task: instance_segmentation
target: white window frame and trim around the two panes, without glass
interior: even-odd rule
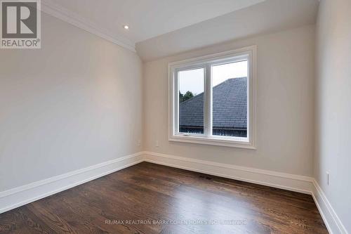
[[[168,63],[168,141],[221,145],[236,148],[256,149],[256,46],[248,46],[232,51],[215,53],[198,58],[190,58]],[[239,60],[248,61],[247,76],[247,137],[213,136],[212,135],[212,84],[211,66],[233,63]],[[179,133],[178,117],[178,71],[204,67],[204,134]]]

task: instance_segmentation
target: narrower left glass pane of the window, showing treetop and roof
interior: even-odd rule
[[[204,134],[204,68],[178,72],[179,132]]]

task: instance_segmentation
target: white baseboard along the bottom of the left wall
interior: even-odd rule
[[[143,155],[141,152],[138,152],[133,155],[119,157],[116,160],[102,162],[91,167],[6,190],[0,193],[0,214],[140,162],[143,162]]]

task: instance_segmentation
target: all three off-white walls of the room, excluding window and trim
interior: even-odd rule
[[[0,191],[139,152],[143,139],[147,151],[314,176],[350,232],[350,8],[321,1],[317,51],[309,25],[144,65],[43,13],[41,49],[0,50]],[[257,150],[168,142],[167,64],[253,44]]]

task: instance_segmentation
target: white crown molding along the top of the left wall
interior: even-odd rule
[[[106,39],[113,44],[117,44],[118,46],[122,46],[128,50],[135,52],[135,43],[126,37],[117,34],[111,34],[109,30],[105,29],[104,27],[96,25],[94,22],[81,17],[77,13],[69,11],[67,8],[53,4],[51,1],[42,0],[41,11],[62,21],[68,22],[71,25],[79,27],[82,30],[90,32],[91,34],[95,34],[102,39]]]

